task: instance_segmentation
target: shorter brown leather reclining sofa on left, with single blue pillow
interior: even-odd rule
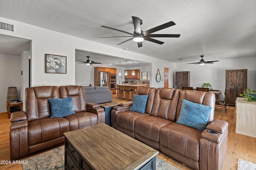
[[[72,97],[75,114],[50,118],[48,99],[67,97]],[[64,143],[64,132],[105,123],[104,109],[86,103],[84,88],[75,85],[26,88],[25,110],[12,113],[10,118],[11,160]]]

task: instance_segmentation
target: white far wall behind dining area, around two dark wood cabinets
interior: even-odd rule
[[[247,87],[256,89],[256,57],[220,59],[219,62],[205,65],[177,63],[174,74],[176,71],[190,71],[190,87],[196,88],[201,87],[203,83],[210,83],[213,89],[222,91],[220,98],[223,98],[228,69],[248,69]]]

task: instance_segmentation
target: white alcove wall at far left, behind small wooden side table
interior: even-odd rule
[[[20,56],[0,54],[0,113],[7,112],[8,87],[17,87],[20,97]]]

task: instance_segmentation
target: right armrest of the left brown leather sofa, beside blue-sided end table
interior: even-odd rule
[[[100,105],[96,103],[86,103],[86,109],[88,112],[95,113],[98,116],[98,123],[105,123],[105,111]]]

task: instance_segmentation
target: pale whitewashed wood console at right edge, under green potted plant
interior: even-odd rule
[[[256,138],[256,101],[248,102],[236,98],[236,133]]]

